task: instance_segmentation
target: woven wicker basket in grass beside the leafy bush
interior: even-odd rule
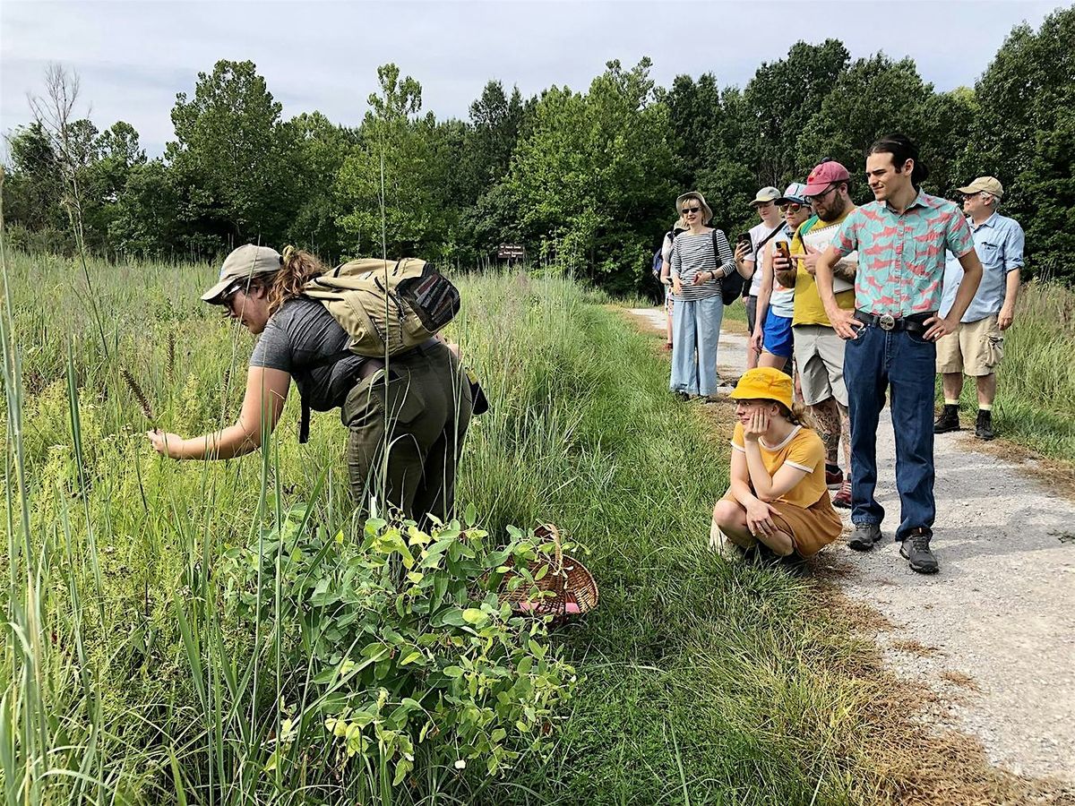
[[[597,607],[597,580],[583,563],[563,553],[560,548],[560,531],[551,523],[545,523],[534,530],[534,535],[539,538],[553,538],[553,557],[540,557],[529,566],[534,577],[542,568],[546,568],[545,575],[534,584],[544,595],[536,601],[531,599],[525,585],[513,591],[507,590],[507,582],[517,576],[508,571],[501,582],[501,601],[510,602],[517,614],[551,616],[554,624],[561,624]]]

